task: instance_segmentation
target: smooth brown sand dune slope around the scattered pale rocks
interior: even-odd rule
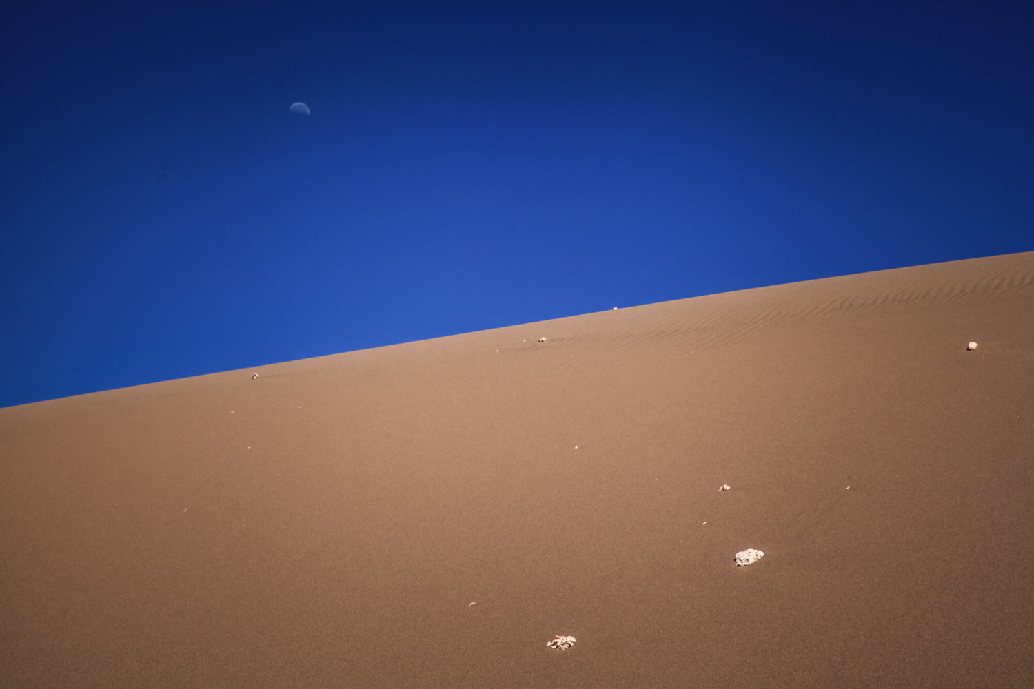
[[[0,409],[0,685],[1034,686],[1034,253],[256,371]]]

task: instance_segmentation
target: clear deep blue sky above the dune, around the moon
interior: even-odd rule
[[[0,406],[1034,249],[1030,2],[9,4]]]

